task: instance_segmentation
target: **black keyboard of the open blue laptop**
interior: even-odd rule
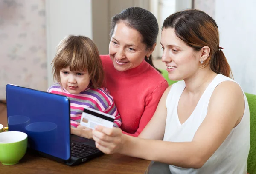
[[[84,157],[85,155],[93,154],[99,152],[99,149],[92,147],[90,145],[79,145],[76,143],[71,143],[71,155],[73,157]]]

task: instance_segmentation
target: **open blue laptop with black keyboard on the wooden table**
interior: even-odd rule
[[[6,85],[9,131],[28,135],[28,149],[52,160],[76,165],[103,153],[93,140],[70,134],[66,96]]]

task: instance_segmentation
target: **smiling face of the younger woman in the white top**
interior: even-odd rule
[[[200,52],[195,52],[178,38],[173,28],[163,29],[161,45],[162,61],[166,63],[169,79],[182,80],[198,72]]]

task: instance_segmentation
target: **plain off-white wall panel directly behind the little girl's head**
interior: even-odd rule
[[[48,87],[54,83],[50,63],[58,43],[69,34],[84,35],[92,39],[92,1],[45,0]]]

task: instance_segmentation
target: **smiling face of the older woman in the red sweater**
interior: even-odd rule
[[[126,71],[142,63],[145,56],[150,56],[146,45],[142,43],[139,31],[117,23],[109,43],[109,55],[117,71]]]

